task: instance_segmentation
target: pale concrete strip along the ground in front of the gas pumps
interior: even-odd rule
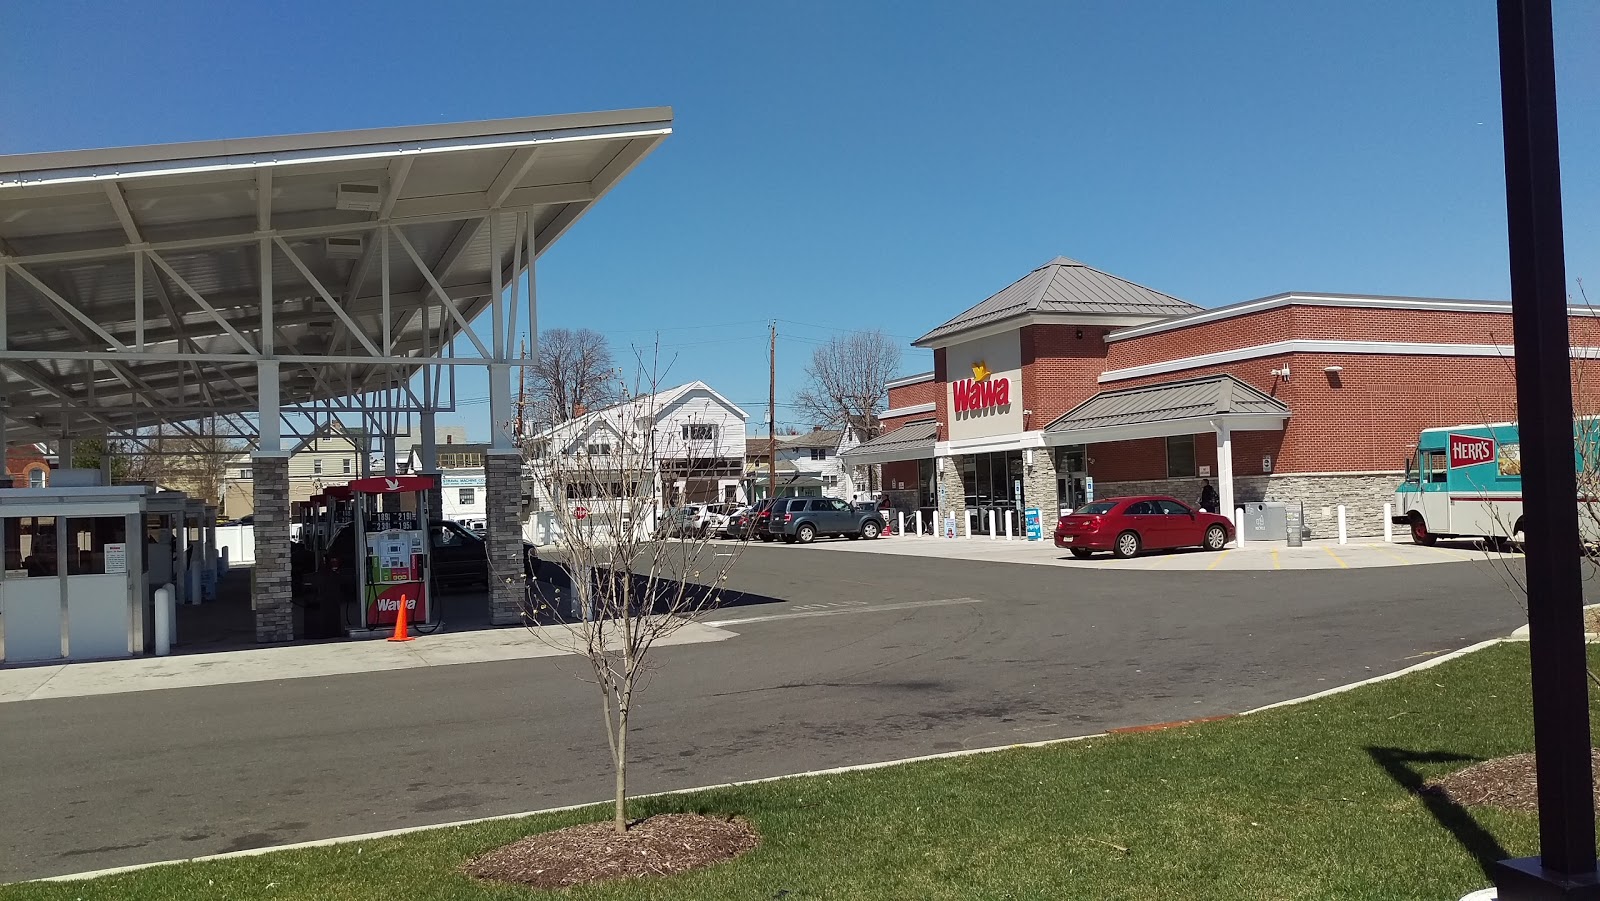
[[[688,623],[672,635],[661,639],[658,645],[694,645],[731,637],[734,632]],[[165,658],[24,666],[0,669],[0,703],[312,679],[576,653],[578,645],[565,626],[542,626],[538,629],[506,627],[418,635],[414,642],[386,642],[382,639],[320,642]]]

